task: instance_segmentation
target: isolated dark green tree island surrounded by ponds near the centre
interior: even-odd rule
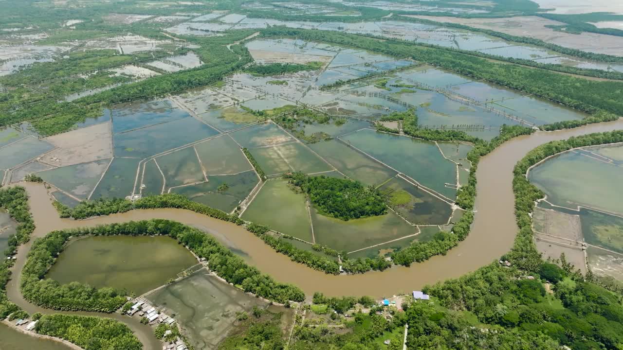
[[[342,220],[383,215],[385,200],[374,187],[365,187],[350,179],[307,176],[297,172],[287,176],[288,182],[300,188],[323,215]]]

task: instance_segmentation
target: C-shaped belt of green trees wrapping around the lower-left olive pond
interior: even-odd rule
[[[247,265],[216,239],[201,232],[169,220],[148,220],[124,224],[103,225],[88,229],[53,231],[37,239],[29,252],[22,270],[21,291],[26,300],[39,306],[55,310],[82,310],[113,312],[125,303],[123,291],[113,288],[95,290],[88,285],[72,282],[60,285],[57,281],[42,279],[65,248],[69,237],[82,235],[168,235],[188,247],[198,257],[206,258],[209,267],[220,277],[234,283],[242,290],[269,300],[286,303],[288,300],[302,301],[303,292],[295,286],[275,282],[262,275],[256,268]]]

